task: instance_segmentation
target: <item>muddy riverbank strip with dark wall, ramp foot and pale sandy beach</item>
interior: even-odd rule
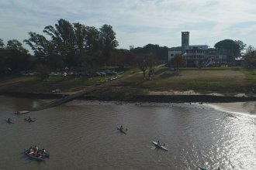
[[[104,90],[103,90],[104,91]],[[220,93],[211,93],[208,95],[203,95],[201,93],[195,93],[192,90],[189,91],[169,91],[169,92],[156,92],[152,91],[149,94],[137,95],[132,90],[127,90],[130,93],[122,92],[120,93],[103,93],[103,92],[93,92],[88,95],[83,95],[81,97],[75,98],[78,100],[95,100],[95,101],[106,101],[112,102],[115,101],[115,104],[125,103],[136,103],[136,104],[202,104],[213,107],[216,110],[229,113],[239,113],[239,114],[249,114],[251,116],[256,116],[256,97],[248,97],[244,94],[237,94],[236,96],[223,96]],[[99,95],[101,94],[101,95]],[[30,99],[53,99],[54,106],[64,104],[67,101],[72,100],[72,95],[74,94],[65,94],[64,93],[21,93],[21,92],[0,92],[2,96],[9,97],[20,97],[20,98],[30,98]],[[64,98],[63,98],[64,97]],[[62,101],[63,100],[63,101]],[[117,103],[116,103],[117,101]],[[50,104],[43,104],[41,107],[33,108],[32,110],[41,110],[47,107],[52,107]]]

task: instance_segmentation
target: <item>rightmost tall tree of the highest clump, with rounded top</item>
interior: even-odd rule
[[[107,61],[111,55],[112,49],[115,49],[118,46],[116,32],[112,30],[112,26],[105,24],[99,29],[99,40],[101,49]]]

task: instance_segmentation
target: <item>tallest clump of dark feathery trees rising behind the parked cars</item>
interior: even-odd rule
[[[59,19],[54,26],[46,26],[43,32],[50,38],[29,32],[30,38],[24,42],[33,49],[38,62],[53,68],[81,66],[81,60],[91,63],[88,59],[92,57],[95,57],[92,63],[107,63],[112,49],[118,46],[116,33],[109,25],[95,29],[79,22],[71,24]]]

